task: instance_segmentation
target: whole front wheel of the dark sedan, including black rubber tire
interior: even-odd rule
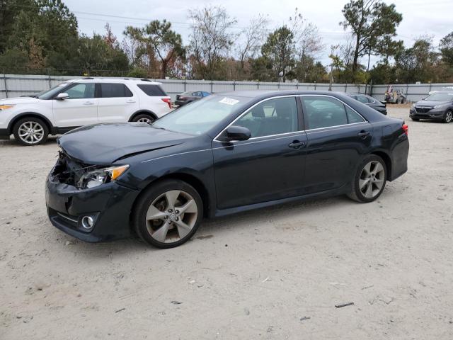
[[[203,204],[193,186],[168,179],[151,185],[132,211],[132,225],[145,242],[173,248],[187,242],[203,217]]]

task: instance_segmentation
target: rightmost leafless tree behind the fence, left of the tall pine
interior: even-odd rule
[[[316,25],[307,21],[298,8],[294,10],[294,16],[289,17],[289,28],[294,35],[296,55],[301,62],[302,69],[305,69],[306,58],[314,57],[316,53],[324,49],[325,45],[323,45]]]

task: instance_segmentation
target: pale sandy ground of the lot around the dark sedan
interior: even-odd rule
[[[452,339],[453,124],[389,111],[409,171],[377,202],[247,212],[168,250],[59,232],[55,140],[0,142],[0,339]]]

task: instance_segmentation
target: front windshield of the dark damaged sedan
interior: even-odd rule
[[[189,135],[202,135],[248,99],[236,96],[209,96],[164,115],[156,120],[153,126]]]

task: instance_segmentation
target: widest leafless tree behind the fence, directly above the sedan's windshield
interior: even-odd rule
[[[190,10],[189,18],[192,20],[190,49],[198,67],[205,69],[202,74],[214,79],[216,67],[228,55],[236,38],[231,27],[237,21],[224,7],[211,5]]]

